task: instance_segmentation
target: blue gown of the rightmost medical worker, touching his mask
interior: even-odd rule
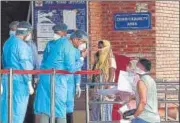
[[[74,48],[75,50],[75,58],[76,58],[76,61],[78,61],[81,57],[81,54],[80,54],[80,50],[77,49],[77,48]],[[81,70],[81,68],[79,69],[79,71]],[[69,80],[67,82],[67,87],[68,87],[68,90],[67,90],[67,102],[66,102],[66,105],[67,105],[67,113],[72,113],[74,111],[74,96],[75,96],[75,91],[76,91],[76,84],[80,84],[81,82],[81,75],[79,74],[76,74],[76,75],[69,75]]]

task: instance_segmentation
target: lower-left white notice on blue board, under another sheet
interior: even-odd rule
[[[52,38],[38,38],[37,39],[38,51],[44,51],[44,49],[46,48],[46,44],[50,40],[52,40]]]

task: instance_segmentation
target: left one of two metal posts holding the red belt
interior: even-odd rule
[[[13,118],[13,72],[12,68],[9,71],[8,76],[8,123],[12,123]]]

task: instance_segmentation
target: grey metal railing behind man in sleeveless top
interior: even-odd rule
[[[163,119],[161,120],[162,123],[179,123],[179,119],[177,121],[170,121],[168,120],[168,107],[167,104],[168,103],[177,103],[179,104],[179,82],[161,82],[161,81],[157,81],[157,92],[159,93],[164,93],[165,94],[165,98],[164,99],[158,99],[158,103],[165,103],[165,120],[163,121]],[[90,104],[121,104],[124,105],[127,102],[119,102],[119,101],[102,101],[102,99],[100,99],[100,101],[90,101],[89,100],[89,87],[90,86],[107,86],[107,85],[117,85],[117,83],[86,83],[86,123],[108,123],[108,121],[90,121],[90,111],[89,111],[89,105]],[[159,86],[164,86],[164,88],[160,88]],[[168,87],[171,87],[171,89],[169,89]],[[178,87],[177,87],[178,86]],[[168,100],[167,99],[167,94],[176,94],[178,96],[178,98],[176,100]],[[102,106],[101,106],[102,107]],[[101,113],[101,117],[103,113]],[[112,122],[112,121],[111,121]],[[113,123],[119,123],[119,121],[113,121]],[[110,123],[110,121],[109,121]]]

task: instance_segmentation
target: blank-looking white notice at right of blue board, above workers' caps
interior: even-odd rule
[[[63,10],[63,22],[68,26],[69,30],[76,29],[76,11]]]

